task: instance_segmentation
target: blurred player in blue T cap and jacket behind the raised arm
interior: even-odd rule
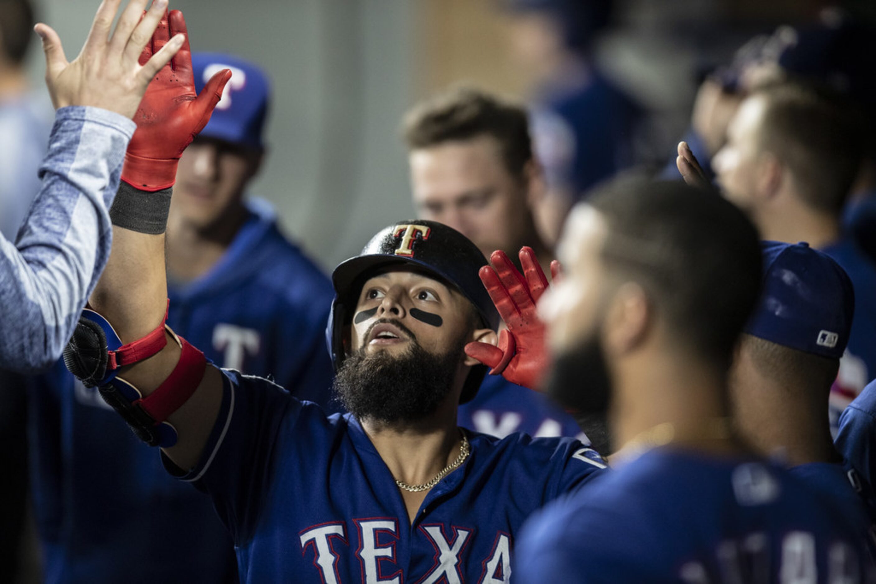
[[[195,53],[192,64],[196,89],[223,69],[236,81],[180,158],[167,229],[176,283],[168,322],[214,362],[272,376],[327,404],[329,279],[280,234],[265,202],[242,199],[264,148],[265,74],[229,55]],[[63,363],[27,385],[46,581],[136,580],[147,569],[150,580],[237,580],[233,544],[212,504],[160,472],[98,391],[76,382]],[[155,500],[159,509],[145,503]],[[145,530],[156,535],[139,542]],[[117,537],[108,541],[109,532]],[[163,560],[149,561],[156,557]]]

